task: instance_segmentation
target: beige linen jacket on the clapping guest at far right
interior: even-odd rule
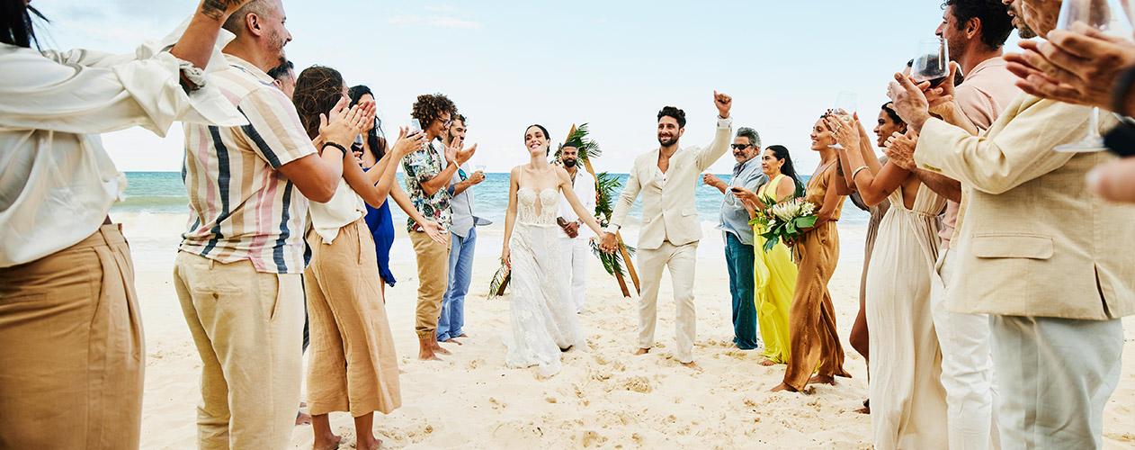
[[[957,312],[1112,319],[1135,312],[1135,207],[1109,203],[1085,176],[1107,152],[1062,153],[1088,108],[1022,95],[984,136],[931,119],[915,161],[961,182]]]

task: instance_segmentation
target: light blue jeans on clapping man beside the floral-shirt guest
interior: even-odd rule
[[[442,317],[437,319],[437,340],[448,341],[463,333],[465,325],[465,294],[473,277],[473,250],[477,248],[477,227],[469,236],[449,234],[449,286],[442,298]]]

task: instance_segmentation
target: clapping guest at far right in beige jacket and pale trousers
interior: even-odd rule
[[[1011,6],[1045,35],[1060,2]],[[972,136],[896,80],[896,109],[922,133],[915,161],[961,182],[947,308],[990,315],[1002,448],[1101,448],[1120,318],[1135,314],[1135,207],[1088,192],[1088,170],[1113,156],[1052,150],[1085,136],[1088,108],[1022,95]]]

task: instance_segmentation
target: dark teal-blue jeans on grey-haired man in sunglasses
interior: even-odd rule
[[[753,350],[760,342],[757,338],[757,306],[754,302],[754,249],[733,233],[724,234],[729,292],[733,295],[733,343],[741,350]]]

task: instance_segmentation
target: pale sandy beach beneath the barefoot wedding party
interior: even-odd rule
[[[146,333],[142,419],[145,449],[195,447],[200,361],[171,285],[179,216],[120,214],[136,265]],[[839,314],[846,368],[854,378],[808,393],[770,393],[783,366],[763,367],[759,355],[731,348],[729,284],[720,235],[707,227],[699,249],[698,333],[695,373],[672,359],[673,302],[669,276],[659,295],[659,345],[634,357],[636,300],[623,299],[598,261],[590,268],[581,320],[588,345],[564,355],[558,375],[504,367],[501,336],[510,332],[506,299],[487,299],[497,267],[501,228],[482,231],[473,286],[466,301],[470,338],[448,345],[444,361],[414,356],[413,311],[418,280],[413,252],[400,238],[392,252],[398,284],[386,306],[400,356],[404,406],[376,417],[384,448],[817,448],[868,449],[868,416],[855,413],[867,394],[864,360],[847,344],[857,310],[863,235],[841,225],[842,258],[830,288]],[[628,238],[637,233],[628,231]],[[1127,322],[1125,365],[1104,417],[1105,447],[1135,448],[1135,322]],[[353,448],[347,414],[331,416],[342,448]],[[310,449],[310,426],[293,431],[294,448]]]

